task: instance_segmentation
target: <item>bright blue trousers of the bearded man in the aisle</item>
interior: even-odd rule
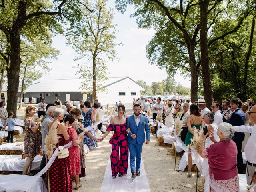
[[[136,171],[140,170],[142,146],[143,146],[143,143],[142,144],[128,143],[129,152],[130,152],[130,166],[131,166],[132,173],[135,173]],[[136,167],[135,167],[135,158],[136,158]]]

